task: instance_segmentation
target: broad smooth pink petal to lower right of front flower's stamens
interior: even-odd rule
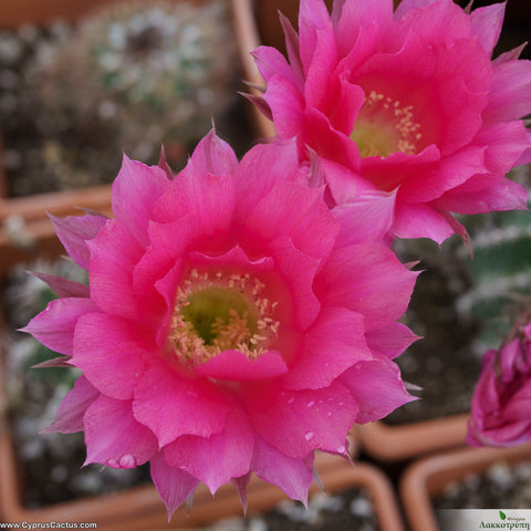
[[[356,362],[371,360],[364,333],[364,320],[358,313],[323,308],[304,337],[301,355],[283,378],[287,388],[326,387]]]

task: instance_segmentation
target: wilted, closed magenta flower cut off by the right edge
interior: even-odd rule
[[[531,323],[500,351],[483,356],[467,442],[516,446],[531,440]]]

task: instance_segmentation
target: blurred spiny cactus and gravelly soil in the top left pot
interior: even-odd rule
[[[221,0],[131,0],[77,25],[0,32],[10,194],[110,183],[123,152],[155,164],[163,143],[177,170],[212,118],[247,147],[228,11]]]

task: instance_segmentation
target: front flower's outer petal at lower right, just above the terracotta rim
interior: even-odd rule
[[[356,423],[384,418],[397,407],[415,400],[404,387],[398,366],[387,358],[360,362],[346,371],[341,381],[360,407]]]

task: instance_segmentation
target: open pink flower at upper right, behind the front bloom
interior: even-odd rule
[[[451,0],[302,0],[300,37],[282,19],[289,61],[254,52],[257,100],[300,157],[323,158],[337,204],[396,190],[395,236],[438,242],[465,232],[450,212],[524,208],[504,178],[531,160],[531,63],[491,61],[504,4],[471,13]],[[310,149],[309,149],[310,148]]]

